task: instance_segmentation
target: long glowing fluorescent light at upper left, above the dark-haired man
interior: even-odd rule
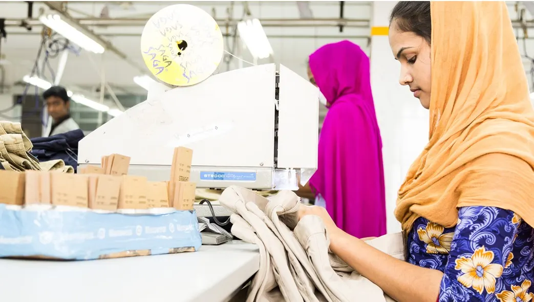
[[[53,31],[56,31],[61,36],[64,36],[70,42],[82,47],[84,50],[94,53],[103,53],[105,50],[104,46],[83,34],[83,32],[76,29],[65,20],[62,20],[58,14],[41,15],[39,21]]]

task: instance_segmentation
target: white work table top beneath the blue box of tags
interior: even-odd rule
[[[254,244],[89,261],[0,259],[0,301],[224,301],[260,266]]]

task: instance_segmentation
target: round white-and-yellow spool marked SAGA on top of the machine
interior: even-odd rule
[[[223,58],[217,22],[202,9],[176,4],[155,13],[141,35],[146,67],[163,83],[190,86],[211,76]]]

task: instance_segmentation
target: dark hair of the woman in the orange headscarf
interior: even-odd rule
[[[413,32],[425,39],[432,40],[432,19],[430,18],[430,1],[399,1],[389,17],[389,26],[395,22],[402,32]]]

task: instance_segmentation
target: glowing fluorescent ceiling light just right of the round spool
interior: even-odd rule
[[[258,19],[240,21],[237,25],[239,36],[248,50],[257,59],[269,58],[273,53],[269,39]]]

